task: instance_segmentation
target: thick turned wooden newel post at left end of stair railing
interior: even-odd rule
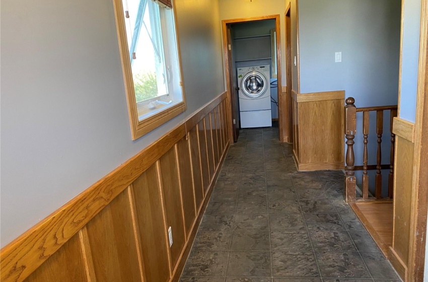
[[[344,133],[346,137],[346,166],[345,166],[345,187],[344,187],[344,198],[346,202],[355,201],[355,172],[354,172],[354,163],[355,156],[353,153],[353,139],[355,138],[356,131],[356,108],[355,108],[355,99],[349,97],[345,100],[344,108]]]

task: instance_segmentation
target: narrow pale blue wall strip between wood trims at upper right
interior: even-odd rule
[[[403,0],[404,1],[404,0]],[[400,118],[416,117],[417,69],[419,61],[420,0],[405,0],[401,59]]]

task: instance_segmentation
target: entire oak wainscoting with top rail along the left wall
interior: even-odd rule
[[[5,246],[1,280],[178,281],[229,148],[225,98]]]

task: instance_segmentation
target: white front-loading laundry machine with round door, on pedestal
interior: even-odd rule
[[[270,65],[237,68],[241,127],[272,126]]]

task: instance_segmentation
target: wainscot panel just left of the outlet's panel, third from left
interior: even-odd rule
[[[171,275],[169,245],[156,164],[132,183],[131,191],[146,281],[166,282]]]

